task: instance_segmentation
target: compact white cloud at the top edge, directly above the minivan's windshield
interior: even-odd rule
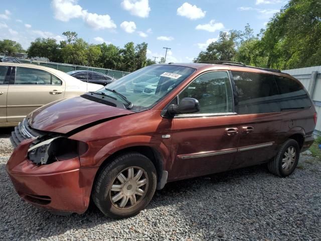
[[[148,0],[123,0],[121,6],[131,15],[147,18],[150,12]]]

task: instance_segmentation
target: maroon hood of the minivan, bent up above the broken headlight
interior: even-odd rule
[[[132,113],[78,96],[44,105],[30,113],[27,119],[34,129],[66,134],[101,119]]]

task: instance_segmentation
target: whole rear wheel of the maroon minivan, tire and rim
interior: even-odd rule
[[[300,148],[298,143],[293,139],[289,139],[281,146],[276,157],[268,163],[267,167],[271,173],[286,177],[294,171],[299,157]]]

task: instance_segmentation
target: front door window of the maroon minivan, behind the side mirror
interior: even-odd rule
[[[179,95],[199,100],[198,113],[233,112],[232,91],[227,72],[210,72],[197,77]]]

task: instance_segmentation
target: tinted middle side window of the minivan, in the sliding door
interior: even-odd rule
[[[232,71],[239,114],[278,112],[278,90],[273,75]]]

